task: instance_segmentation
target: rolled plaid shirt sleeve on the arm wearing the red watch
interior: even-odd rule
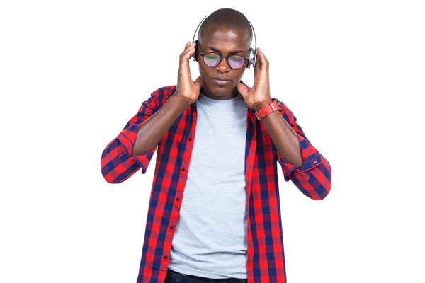
[[[277,99],[276,99],[277,100]],[[297,118],[285,103],[278,100],[279,110],[283,119],[294,129],[300,142],[302,165],[295,166],[288,163],[276,150],[278,163],[282,166],[286,182],[292,180],[293,184],[307,197],[313,200],[323,200],[331,190],[331,166],[329,162],[312,146],[305,136]]]

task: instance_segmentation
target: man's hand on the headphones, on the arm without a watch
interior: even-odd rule
[[[176,96],[186,100],[189,105],[196,102],[199,97],[202,79],[198,76],[195,82],[192,81],[191,69],[189,68],[189,59],[196,51],[196,42],[186,43],[183,52],[180,54],[179,76],[177,77]]]

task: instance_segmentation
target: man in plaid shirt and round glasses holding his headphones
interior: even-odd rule
[[[254,86],[241,81],[251,40],[242,13],[212,13],[180,55],[177,85],[154,91],[103,151],[103,177],[121,183],[158,149],[138,283],[286,282],[277,163],[307,197],[329,193],[331,167],[271,98],[261,49]]]

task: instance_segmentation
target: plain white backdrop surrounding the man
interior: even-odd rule
[[[112,185],[101,153],[218,8],[331,163],[321,201],[280,171],[288,282],[425,282],[421,2],[2,1],[0,282],[136,281],[156,154]]]

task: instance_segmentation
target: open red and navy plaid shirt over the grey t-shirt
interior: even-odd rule
[[[196,103],[184,110],[157,147],[136,156],[132,154],[132,146],[142,122],[162,108],[175,89],[176,86],[166,86],[154,91],[120,134],[106,146],[101,158],[103,178],[108,183],[122,183],[139,169],[145,174],[158,149],[137,283],[163,283],[166,277],[195,142]],[[286,282],[277,163],[282,168],[284,180],[292,180],[313,200],[322,200],[331,188],[328,161],[310,144],[293,113],[284,103],[279,100],[278,103],[282,107],[280,114],[297,133],[303,163],[294,166],[286,162],[276,151],[266,127],[257,120],[255,111],[248,108],[245,175],[249,211],[246,231],[249,283]]]

